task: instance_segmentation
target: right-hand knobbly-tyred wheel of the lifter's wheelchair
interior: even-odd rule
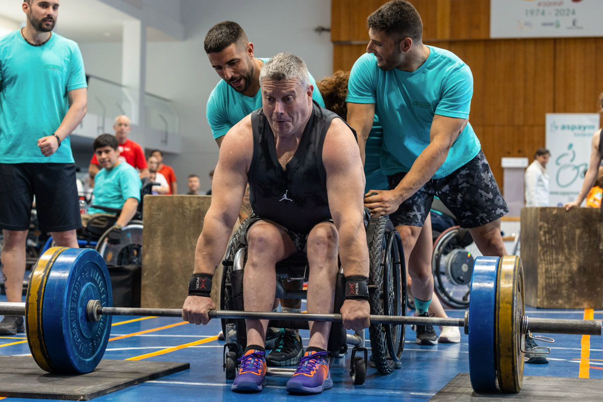
[[[406,269],[399,233],[389,219],[373,218],[367,241],[371,314],[406,315]],[[377,371],[390,374],[404,350],[405,325],[371,324],[368,332]]]

